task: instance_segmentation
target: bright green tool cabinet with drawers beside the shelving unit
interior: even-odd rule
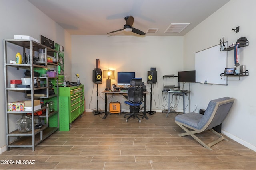
[[[84,85],[59,87],[60,131],[69,131],[71,123],[84,112]]]

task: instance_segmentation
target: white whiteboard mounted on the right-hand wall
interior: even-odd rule
[[[208,84],[227,85],[227,80],[220,76],[226,67],[227,51],[220,51],[220,45],[195,53],[196,82],[198,83],[207,80]]]

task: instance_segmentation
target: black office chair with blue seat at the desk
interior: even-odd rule
[[[142,87],[142,78],[132,78],[131,79],[131,87],[128,90],[128,95],[124,95],[125,98],[127,98],[128,101],[125,101],[124,103],[128,104],[130,106],[130,109],[133,109],[132,113],[128,113],[124,115],[124,118],[126,116],[129,116],[126,119],[126,122],[128,122],[128,119],[135,117],[138,119],[139,123],[140,118],[138,116],[141,116],[142,119],[144,119],[144,115],[135,113],[135,109],[140,110],[140,105],[142,104],[143,99],[143,87]]]

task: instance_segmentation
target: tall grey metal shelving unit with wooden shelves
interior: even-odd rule
[[[39,48],[45,49],[45,62],[34,61],[34,53]],[[10,64],[10,60],[15,59],[16,52],[26,53],[30,55],[30,63],[27,64]],[[47,62],[47,54],[56,53],[57,64]],[[5,113],[6,113],[6,144],[7,150],[14,147],[31,147],[35,150],[36,145],[49,137],[55,131],[59,129],[59,106],[58,106],[58,86],[54,87],[54,94],[49,95],[49,80],[53,80],[54,84],[58,84],[58,74],[56,77],[37,77],[45,83],[45,86],[34,87],[34,70],[35,69],[51,69],[54,68],[58,73],[58,51],[46,47],[40,43],[32,40],[17,40],[17,39],[4,39],[4,84],[5,84]],[[21,72],[30,70],[30,88],[11,88],[9,86],[11,79],[20,79],[24,74]],[[44,90],[45,95],[37,96],[36,90]],[[28,95],[29,92],[29,95]],[[34,100],[40,99],[44,104],[50,100],[55,102],[55,111],[50,112],[48,106],[41,106],[40,109],[34,109]],[[8,103],[16,101],[31,100],[31,111],[8,111]],[[40,129],[35,128],[35,115],[36,112],[42,111],[42,115],[39,115],[42,120],[42,127]],[[30,114],[32,120],[32,130],[28,132],[20,132],[17,125],[14,123],[15,118],[21,117],[24,114]],[[42,118],[42,119],[41,119]]]

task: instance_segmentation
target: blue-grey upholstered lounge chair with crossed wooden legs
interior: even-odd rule
[[[185,133],[179,134],[179,136],[182,137],[190,135],[205,148],[212,150],[210,147],[225,139],[221,134],[217,133],[212,128],[220,125],[224,121],[224,119],[230,112],[233,103],[233,98],[218,98],[209,102],[207,109],[204,112],[204,115],[191,112],[176,116],[175,123],[179,125],[184,131],[186,131]],[[196,133],[201,133],[206,130],[212,131],[218,136],[218,139],[212,141],[209,144],[206,144],[198,137],[196,137],[196,135],[194,135]]]

